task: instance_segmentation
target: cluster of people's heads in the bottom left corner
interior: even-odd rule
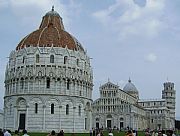
[[[22,133],[22,136],[29,136],[27,130],[23,130]],[[19,136],[19,131],[15,130],[14,134],[12,134],[10,130],[0,130],[0,136]]]

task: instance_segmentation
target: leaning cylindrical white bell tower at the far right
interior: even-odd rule
[[[169,109],[170,128],[175,128],[175,104],[176,91],[174,90],[174,83],[164,83],[164,90],[162,91],[162,99],[166,99],[167,108]]]

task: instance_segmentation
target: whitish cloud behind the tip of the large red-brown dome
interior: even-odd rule
[[[63,18],[65,27],[67,27],[71,21],[71,16],[79,13],[80,4],[73,2],[72,0],[66,1],[64,4],[59,0],[0,0],[1,10],[7,10],[11,12],[18,23],[23,26],[30,26],[37,28],[39,26],[40,17],[51,10],[52,6]],[[32,29],[32,28],[30,28]]]

